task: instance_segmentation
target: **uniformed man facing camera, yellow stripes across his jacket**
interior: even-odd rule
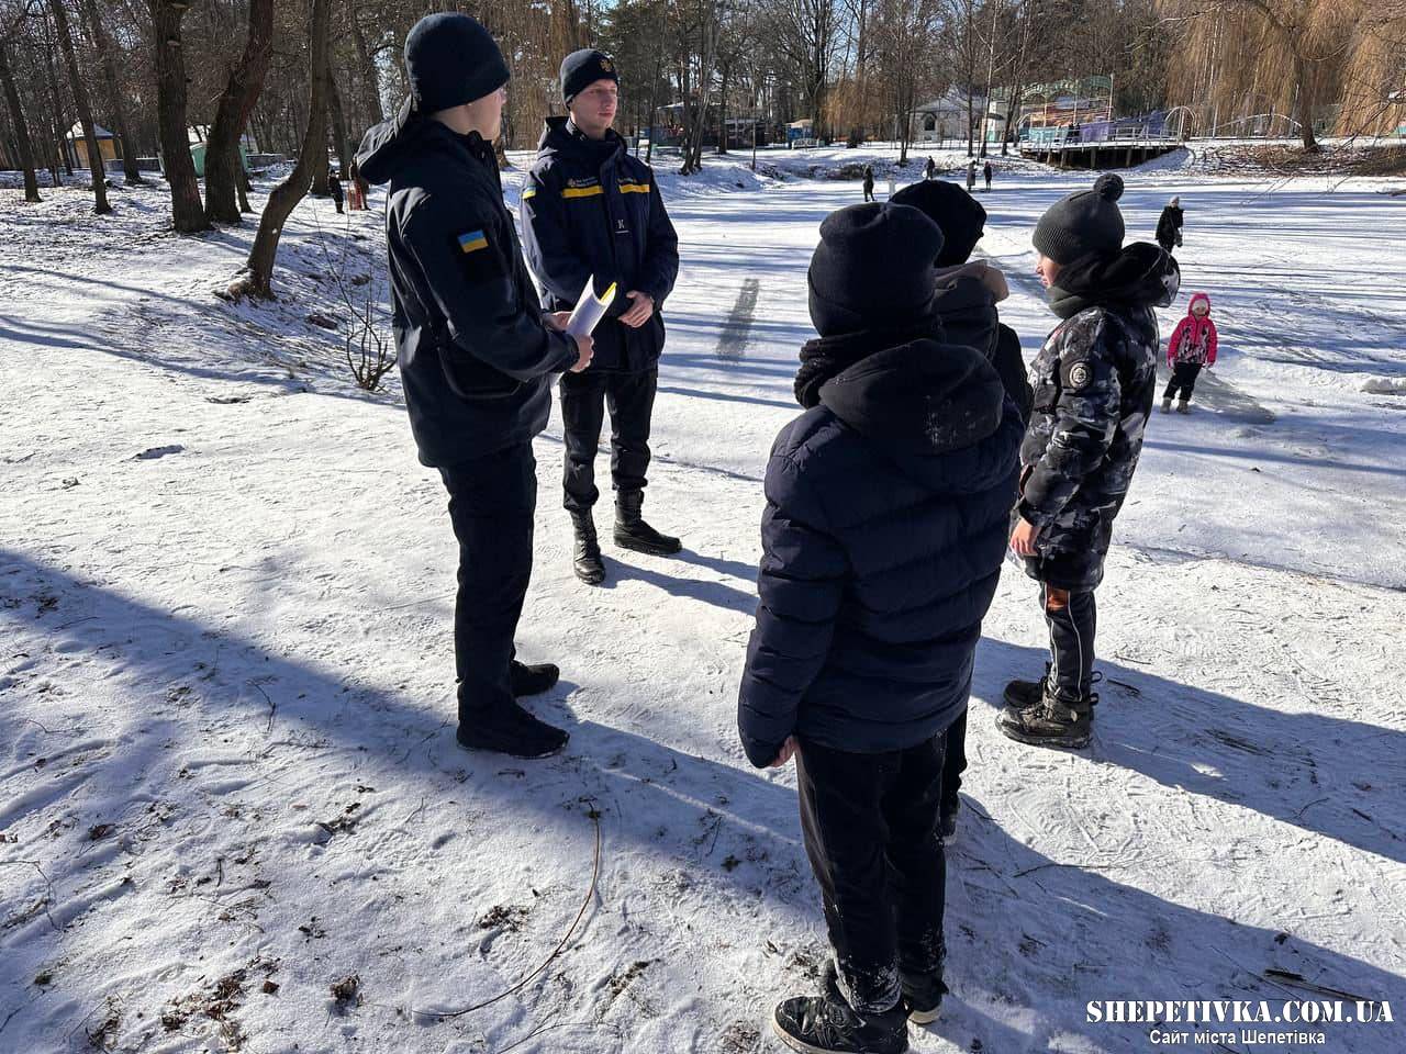
[[[610,475],[616,545],[666,555],[679,540],[640,514],[650,465],[650,419],[664,351],[664,299],[679,273],[679,239],[650,166],[612,131],[620,79],[598,51],[561,63],[569,117],[547,118],[537,163],[523,190],[523,243],[550,311],[575,306],[586,280],[616,295],[595,332],[591,370],[561,378],[565,507],[575,530],[572,565],[588,585],[605,580],[591,509],[596,447],[610,408]]]

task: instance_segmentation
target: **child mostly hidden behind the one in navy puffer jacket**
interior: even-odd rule
[[[1001,386],[1021,415],[1021,427],[1031,419],[1033,395],[1021,354],[1021,339],[1001,323],[997,304],[1011,295],[1005,275],[984,260],[972,260],[972,250],[981,240],[986,209],[962,187],[946,180],[914,183],[893,197],[896,205],[920,209],[942,232],[942,252],[936,266],[936,295],[934,315],[942,323],[943,336],[953,344],[974,347],[1001,378]],[[1011,490],[1011,506],[1015,490]],[[962,788],[966,770],[966,711],[952,722],[946,736],[946,756],[942,763],[942,836],[956,833]]]

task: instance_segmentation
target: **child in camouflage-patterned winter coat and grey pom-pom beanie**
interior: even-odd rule
[[[1011,549],[1043,587],[1050,665],[1038,682],[1007,684],[998,725],[1036,746],[1078,748],[1091,735],[1094,590],[1156,395],[1153,308],[1171,304],[1180,281],[1157,246],[1123,247],[1122,193],[1118,176],[1099,176],[1035,228],[1035,270],[1062,322],[1032,368]]]

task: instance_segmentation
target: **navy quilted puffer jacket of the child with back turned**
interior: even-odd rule
[[[875,753],[952,724],[1005,551],[1021,422],[995,371],[936,340],[830,340],[851,343],[835,360],[853,365],[766,467],[738,693],[758,767],[792,734]]]

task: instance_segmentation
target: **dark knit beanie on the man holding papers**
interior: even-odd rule
[[[415,22],[405,37],[405,73],[422,114],[472,103],[508,83],[508,63],[492,35],[456,11]]]

